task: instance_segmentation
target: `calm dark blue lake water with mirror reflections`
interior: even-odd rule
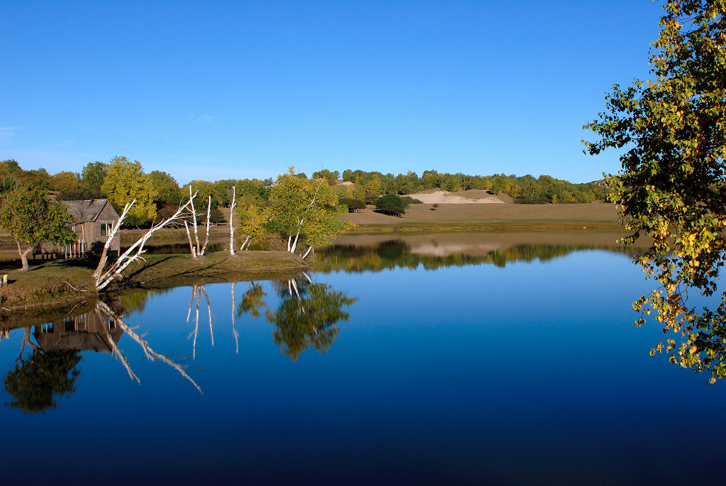
[[[721,484],[726,383],[648,355],[607,235],[346,238],[9,330],[4,484]]]

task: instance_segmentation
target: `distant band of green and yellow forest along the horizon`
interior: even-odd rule
[[[107,179],[113,174],[114,183]],[[298,177],[308,178],[304,173]],[[514,199],[515,203],[592,203],[606,198],[606,190],[598,182],[573,184],[560,179],[542,175],[532,177],[526,175],[493,174],[490,176],[449,174],[436,170],[424,171],[421,176],[415,172],[407,174],[383,174],[375,171],[349,170],[342,174],[338,171],[324,169],[311,174],[314,179],[325,179],[333,187],[340,198],[356,198],[372,203],[381,195],[409,195],[422,190],[441,189],[487,190],[490,193],[503,193]],[[163,171],[146,173],[142,165],[130,162],[124,157],[115,157],[109,162],[89,162],[80,172],[61,171],[49,174],[46,169],[24,170],[14,160],[0,162],[0,192],[6,193],[19,185],[33,185],[52,191],[57,199],[70,201],[76,199],[108,198],[112,203],[118,201],[115,190],[121,190],[118,179],[126,179],[130,183],[139,183],[150,193],[150,201],[156,206],[159,216],[166,216],[172,208],[179,206],[184,195],[189,195],[189,184],[179,186],[174,177]],[[143,179],[143,180],[142,180]],[[342,184],[351,182],[352,184]],[[266,200],[269,190],[274,185],[270,179],[224,179],[216,182],[203,180],[192,181],[194,190],[199,193],[195,206],[206,210],[209,196],[213,219],[221,219],[219,207],[229,207],[232,198],[232,186],[236,187],[237,202],[244,205],[251,201]],[[121,205],[123,207],[123,204]],[[131,225],[148,224],[139,218]]]

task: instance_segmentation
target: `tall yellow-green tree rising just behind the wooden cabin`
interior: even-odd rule
[[[158,193],[139,161],[118,156],[111,159],[101,190],[119,213],[126,203],[136,200],[125,220],[127,226],[149,224],[156,217]]]

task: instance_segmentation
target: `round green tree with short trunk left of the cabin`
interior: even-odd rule
[[[64,245],[76,241],[71,219],[62,203],[51,201],[45,190],[21,186],[2,197],[0,226],[13,235],[17,253],[28,271],[28,254],[43,243]],[[23,249],[25,243],[27,248]]]

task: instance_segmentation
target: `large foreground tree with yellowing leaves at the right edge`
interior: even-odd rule
[[[627,242],[653,238],[636,261],[661,286],[633,304],[664,328],[651,354],[709,370],[714,382],[726,376],[725,306],[697,312],[687,298],[688,288],[717,291],[726,259],[726,1],[670,0],[664,8],[653,78],[613,86],[605,113],[585,126],[599,139],[584,143],[593,155],[623,151],[622,171],[607,178],[611,201],[632,231]]]

